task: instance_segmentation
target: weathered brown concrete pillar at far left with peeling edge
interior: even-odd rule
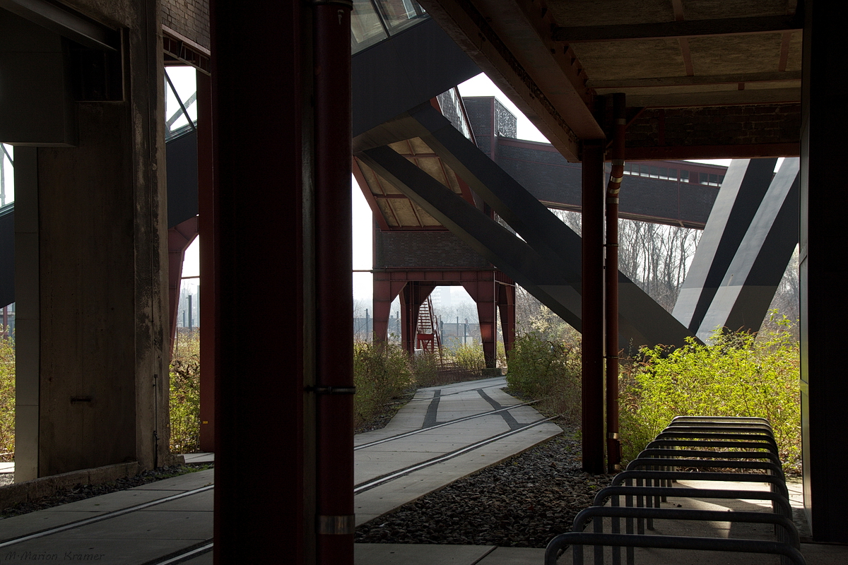
[[[77,103],[76,147],[25,153],[37,224],[26,221],[16,244],[28,326],[17,480],[169,461],[159,7],[103,9],[127,30],[124,100]]]

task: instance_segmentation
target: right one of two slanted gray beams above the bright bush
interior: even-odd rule
[[[785,158],[713,297],[698,337],[716,328],[756,330],[798,243],[799,158]]]

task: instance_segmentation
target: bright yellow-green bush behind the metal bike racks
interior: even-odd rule
[[[621,433],[625,460],[674,416],[758,416],[771,422],[787,470],[801,465],[799,349],[789,325],[755,336],[716,334],[667,352],[642,350],[622,370]]]

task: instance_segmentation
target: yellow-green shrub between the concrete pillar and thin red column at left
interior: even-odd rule
[[[170,451],[200,451],[200,332],[177,335],[170,360]]]

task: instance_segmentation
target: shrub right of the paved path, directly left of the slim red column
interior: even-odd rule
[[[535,332],[518,335],[506,382],[510,389],[538,399],[543,412],[580,421],[580,348],[548,341]]]

